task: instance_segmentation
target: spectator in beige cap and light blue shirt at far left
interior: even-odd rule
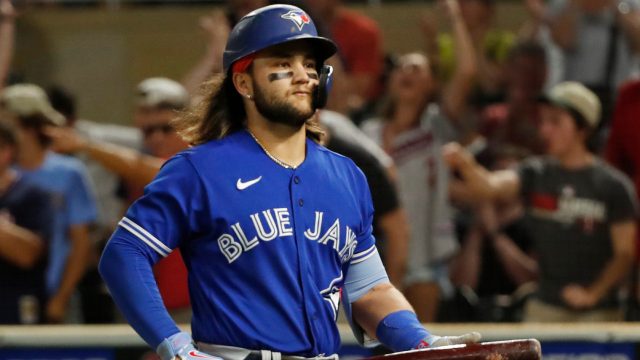
[[[49,151],[44,128],[63,125],[64,117],[51,107],[40,87],[18,84],[5,88],[0,109],[18,129],[17,170],[53,196],[56,219],[47,269],[47,319],[78,322],[76,286],[90,257],[89,225],[97,212],[86,168],[77,159]]]

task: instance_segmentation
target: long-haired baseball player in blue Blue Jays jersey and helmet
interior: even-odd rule
[[[297,7],[243,17],[205,102],[176,124],[193,147],[120,221],[100,271],[162,359],[336,358],[342,298],[359,340],[394,351],[475,342],[430,334],[390,283],[362,172],[316,143],[335,44]],[[179,247],[192,335],[162,304],[152,265]]]

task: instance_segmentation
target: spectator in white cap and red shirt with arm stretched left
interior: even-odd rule
[[[47,131],[54,150],[83,154],[120,176],[129,185],[132,200],[142,194],[143,187],[153,179],[165,160],[187,147],[170,122],[189,105],[189,95],[180,83],[153,77],[136,87],[135,105],[134,123],[142,134],[143,151],[115,143],[112,138],[101,136],[104,134],[82,132],[89,129],[87,126],[77,130],[50,128]],[[99,129],[96,125],[93,128]],[[118,212],[113,222],[117,224],[122,208],[109,210]],[[112,231],[113,228],[110,233]],[[179,250],[154,266],[164,304],[172,318],[180,323],[191,319],[186,272]]]

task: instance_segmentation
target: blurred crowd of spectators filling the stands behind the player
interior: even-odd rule
[[[437,1],[403,54],[344,1],[286,1],[339,46],[312,121],[368,179],[391,281],[423,322],[638,320],[640,1],[524,0],[518,31],[495,25],[495,0]],[[207,96],[233,25],[269,3],[203,14],[201,60],[140,82],[123,126],[83,119],[82,94],[9,80],[20,17],[0,0],[0,324],[122,321],[101,249],[189,146],[173,122]],[[154,268],[178,322],[186,271],[179,250]]]

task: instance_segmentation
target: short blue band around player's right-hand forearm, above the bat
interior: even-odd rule
[[[387,315],[376,329],[381,343],[393,351],[406,351],[419,347],[431,334],[420,324],[416,314],[401,310]],[[428,344],[425,344],[428,346]]]

